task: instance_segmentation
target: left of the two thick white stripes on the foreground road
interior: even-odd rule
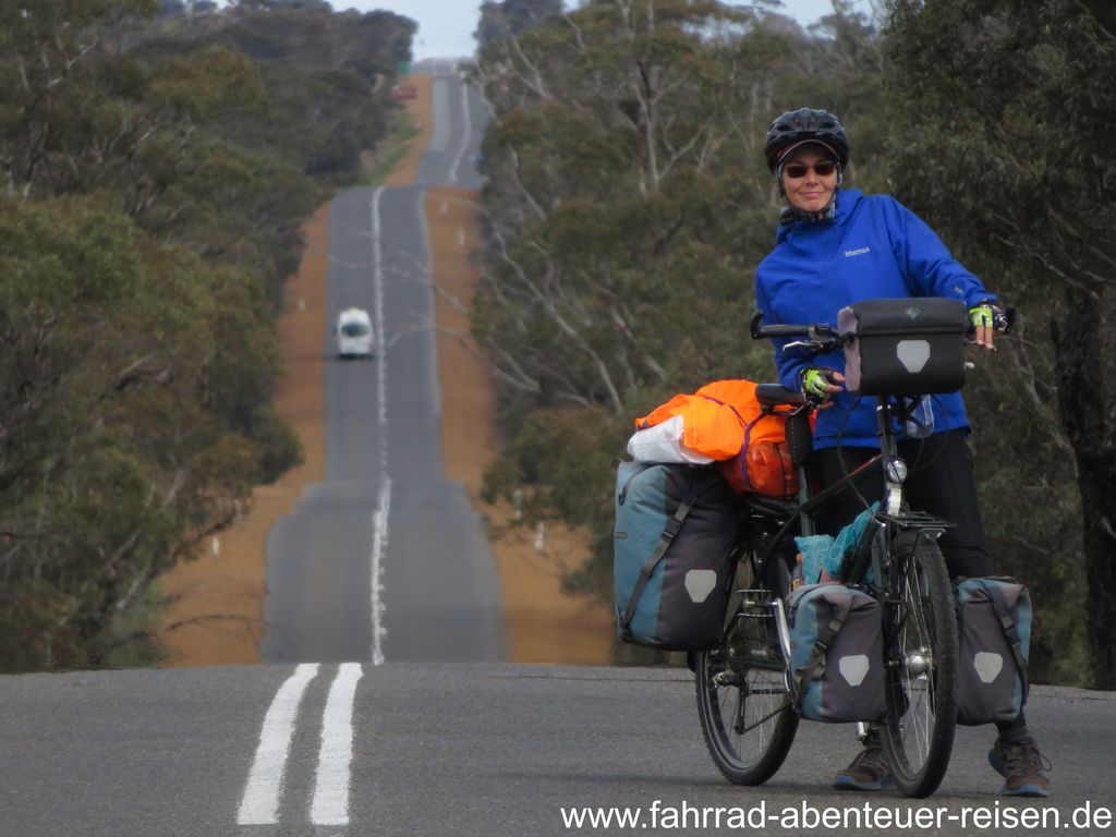
[[[276,824],[279,814],[279,790],[287,756],[295,734],[295,719],[306,686],[318,673],[317,663],[302,663],[279,687],[263,716],[260,743],[256,748],[252,769],[248,773],[244,796],[240,800],[237,822],[242,826]]]

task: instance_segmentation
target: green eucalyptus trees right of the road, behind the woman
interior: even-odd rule
[[[474,330],[507,435],[488,489],[521,498],[525,525],[588,527],[576,581],[607,598],[632,419],[772,374],[743,334],[778,208],[760,144],[779,112],[826,107],[850,132],[848,180],[897,194],[1022,311],[966,388],[989,546],[1035,589],[1036,679],[1081,683],[1091,655],[1112,685],[1113,11],[894,0],[879,35],[834,6],[806,35],[716,2],[595,0],[481,39],[496,118]]]

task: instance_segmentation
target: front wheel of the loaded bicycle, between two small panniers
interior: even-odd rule
[[[958,716],[958,624],[937,543],[923,533],[893,541],[885,616],[887,714],[881,728],[895,785],[922,799],[937,790],[953,751]]]

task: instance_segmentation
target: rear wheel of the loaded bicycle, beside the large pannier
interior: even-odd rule
[[[778,595],[762,583],[745,580],[745,587],[761,602]],[[769,605],[766,610],[762,605],[749,606],[733,595],[729,613],[721,644],[695,658],[698,715],[722,776],[733,785],[762,785],[790,752],[798,714],[787,691],[787,662],[773,610]]]

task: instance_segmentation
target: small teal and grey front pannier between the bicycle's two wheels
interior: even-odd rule
[[[811,721],[876,721],[884,701],[884,635],[879,603],[839,584],[790,595],[791,689]]]

